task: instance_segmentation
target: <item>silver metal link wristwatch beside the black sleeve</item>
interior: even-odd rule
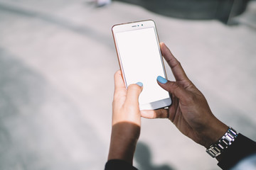
[[[210,154],[210,157],[218,157],[225,149],[228,148],[234,141],[235,138],[238,136],[238,133],[231,127],[228,128],[228,131],[225,132],[223,137],[218,140],[213,145],[210,145],[206,152]]]

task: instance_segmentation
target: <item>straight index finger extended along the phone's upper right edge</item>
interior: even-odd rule
[[[160,43],[161,45],[161,53],[164,56],[164,59],[171,67],[171,71],[174,74],[176,81],[188,80],[185,71],[181,67],[181,63],[176,60],[174,55],[171,54],[171,51],[168,47],[164,44],[164,42]]]

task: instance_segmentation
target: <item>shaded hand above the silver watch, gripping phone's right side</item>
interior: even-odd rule
[[[178,130],[191,140],[206,148],[210,147],[225,134],[228,126],[215,118],[206,98],[188,79],[181,63],[164,43],[161,43],[161,52],[176,81],[167,81],[166,84],[158,81],[158,84],[169,91],[173,103],[167,110],[142,111],[142,117],[169,118]]]

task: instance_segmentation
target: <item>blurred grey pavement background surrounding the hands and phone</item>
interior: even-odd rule
[[[256,1],[0,0],[0,169],[104,169],[119,69],[111,28],[145,19],[213,113],[256,140]],[[216,164],[169,120],[142,120],[137,168]]]

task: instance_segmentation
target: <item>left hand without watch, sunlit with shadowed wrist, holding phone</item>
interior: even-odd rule
[[[126,89],[121,72],[117,71],[114,74],[112,132],[108,160],[123,159],[132,164],[141,128],[142,116],[138,101],[142,89],[140,83],[131,84]]]

